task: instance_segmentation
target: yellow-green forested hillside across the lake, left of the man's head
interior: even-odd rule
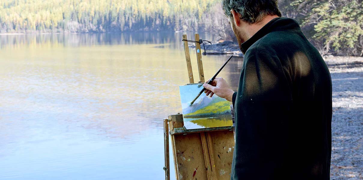
[[[1,0],[1,32],[197,30],[219,0]]]

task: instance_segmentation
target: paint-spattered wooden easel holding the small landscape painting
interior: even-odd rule
[[[183,35],[187,40],[187,35]],[[199,34],[195,34],[199,41]],[[194,83],[188,42],[184,42],[189,84]],[[200,82],[205,82],[200,44],[196,43]],[[234,150],[233,126],[187,130],[183,115],[164,119],[165,179],[170,180],[169,134],[176,180],[229,180]]]

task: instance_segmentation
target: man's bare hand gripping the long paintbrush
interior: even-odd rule
[[[212,97],[214,94],[216,94],[217,96],[232,102],[234,91],[231,89],[231,87],[229,87],[227,81],[224,78],[215,78],[211,85],[207,84],[207,82],[203,84],[203,87],[207,89],[204,91],[205,95]]]

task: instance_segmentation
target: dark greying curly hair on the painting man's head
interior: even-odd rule
[[[232,17],[233,9],[249,24],[260,21],[266,15],[281,17],[277,0],[222,0],[222,9],[227,17]]]

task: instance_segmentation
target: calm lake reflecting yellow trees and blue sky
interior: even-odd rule
[[[0,179],[163,179],[163,118],[188,83],[182,34],[0,35]],[[203,56],[206,80],[228,57]],[[241,66],[219,74],[234,90]]]

